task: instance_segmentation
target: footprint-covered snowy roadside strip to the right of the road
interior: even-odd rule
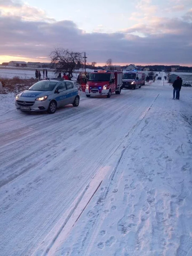
[[[48,255],[192,255],[192,97],[185,88],[185,101],[173,101],[164,88]]]

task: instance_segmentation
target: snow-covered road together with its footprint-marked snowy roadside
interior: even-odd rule
[[[49,115],[0,95],[0,255],[191,256],[191,88],[80,96]]]

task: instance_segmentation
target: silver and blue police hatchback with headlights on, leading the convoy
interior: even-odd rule
[[[16,96],[17,110],[28,112],[47,111],[73,104],[79,106],[79,91],[73,81],[63,79],[42,80]]]

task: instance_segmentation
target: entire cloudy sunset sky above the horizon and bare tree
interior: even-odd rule
[[[98,64],[192,66],[192,0],[0,0],[0,63],[46,62],[54,47]]]

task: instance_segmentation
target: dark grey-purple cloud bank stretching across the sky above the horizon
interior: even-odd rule
[[[85,33],[73,21],[25,21],[0,16],[0,55],[47,57],[54,47],[86,51],[88,62],[178,63],[192,62],[192,23],[180,19],[158,20],[123,32]],[[132,32],[143,33],[145,37]]]

